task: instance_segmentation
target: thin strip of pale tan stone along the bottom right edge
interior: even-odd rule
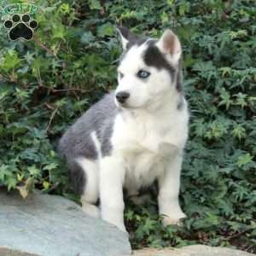
[[[226,247],[207,247],[194,245],[189,247],[158,249],[143,249],[132,253],[134,256],[255,256],[252,253],[233,250]]]

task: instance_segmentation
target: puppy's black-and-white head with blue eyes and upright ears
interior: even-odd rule
[[[160,39],[140,38],[118,28],[123,55],[118,67],[115,102],[122,108],[147,108],[167,92],[178,93],[177,73],[181,44],[172,30]]]

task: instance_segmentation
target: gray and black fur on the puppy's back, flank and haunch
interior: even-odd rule
[[[79,157],[90,160],[98,158],[91,132],[96,132],[96,137],[101,144],[102,156],[111,154],[110,139],[113,133],[114,118],[118,113],[113,97],[114,94],[110,93],[101,101],[96,102],[61,137],[58,151],[67,160],[71,180],[79,193],[84,190],[85,177],[82,177],[83,171],[74,160]]]

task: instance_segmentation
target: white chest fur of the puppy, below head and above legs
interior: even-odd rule
[[[113,154],[125,165],[125,187],[136,191],[164,172],[166,162],[182,151],[187,140],[188,111],[158,114],[121,112],[113,128]]]

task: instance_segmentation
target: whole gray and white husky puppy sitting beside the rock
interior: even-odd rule
[[[67,130],[59,151],[84,212],[125,230],[123,189],[137,195],[157,181],[163,222],[178,224],[185,218],[178,194],[189,123],[181,44],[171,30],[158,40],[125,27],[119,34],[118,87]]]

